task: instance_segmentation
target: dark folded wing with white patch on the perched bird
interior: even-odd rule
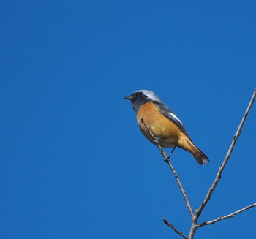
[[[159,107],[159,112],[162,113],[162,115],[165,115],[166,118],[168,118],[170,121],[176,124],[176,126],[178,127],[178,129],[181,130],[181,132],[183,132],[184,134],[187,135],[187,137],[189,137],[187,130],[181,123],[180,119],[173,113],[173,110],[170,110],[170,108],[162,102],[154,102],[154,104],[157,105],[157,107]]]

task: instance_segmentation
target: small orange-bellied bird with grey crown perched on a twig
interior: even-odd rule
[[[192,142],[181,120],[157,94],[153,91],[138,90],[124,96],[124,99],[132,102],[140,131],[151,143],[158,143],[161,147],[173,150],[176,147],[182,148],[191,153],[198,164],[207,164],[209,159],[206,154]]]

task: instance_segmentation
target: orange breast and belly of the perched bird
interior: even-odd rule
[[[159,138],[159,144],[162,147],[173,147],[177,145],[182,132],[176,124],[170,121],[165,115],[159,112],[159,108],[152,102],[147,102],[140,107],[137,113],[137,121],[141,132],[148,140],[152,140],[148,129],[141,123],[141,119],[150,127],[155,137]]]

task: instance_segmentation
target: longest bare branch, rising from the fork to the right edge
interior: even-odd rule
[[[252,95],[252,99],[250,100],[249,105],[248,105],[248,107],[247,107],[247,109],[246,109],[246,111],[244,113],[244,117],[242,118],[241,123],[239,124],[238,129],[236,131],[236,134],[233,137],[233,140],[232,140],[232,143],[230,145],[230,148],[227,151],[227,155],[225,156],[224,161],[222,162],[222,164],[219,167],[219,171],[217,172],[217,176],[214,179],[214,183],[211,184],[210,189],[208,190],[208,193],[206,194],[206,198],[203,200],[203,202],[200,205],[200,207],[196,210],[195,216],[197,217],[197,219],[200,216],[200,214],[202,213],[203,208],[205,208],[205,206],[207,205],[208,201],[210,200],[211,194],[213,193],[214,189],[216,188],[216,186],[217,186],[217,184],[218,184],[218,182],[219,182],[219,180],[220,180],[220,178],[222,176],[222,172],[223,172],[223,170],[224,170],[224,168],[225,168],[225,166],[227,164],[228,159],[230,158],[230,155],[231,155],[231,153],[233,151],[234,146],[236,145],[236,140],[238,139],[239,135],[241,134],[241,129],[244,126],[244,121],[246,120],[246,117],[247,117],[247,115],[249,113],[249,110],[252,107],[252,104],[253,104],[253,102],[255,100],[255,96],[256,96],[256,88],[255,88],[254,94]]]

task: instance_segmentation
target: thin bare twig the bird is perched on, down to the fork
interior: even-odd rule
[[[141,123],[144,124],[146,126],[146,128],[148,129],[149,134],[151,135],[153,142],[155,145],[157,145],[157,148],[159,148],[159,151],[161,152],[162,156],[164,157],[165,162],[167,162],[167,164],[170,167],[170,170],[172,170],[174,177],[176,178],[176,181],[178,183],[178,187],[181,189],[181,193],[184,197],[184,200],[186,202],[187,208],[189,209],[189,213],[191,218],[193,218],[194,213],[193,213],[193,208],[190,205],[189,199],[187,197],[187,192],[184,190],[184,187],[181,184],[181,180],[178,178],[178,174],[176,172],[176,170],[173,167],[173,164],[171,164],[169,158],[170,156],[167,155],[167,153],[165,153],[165,151],[162,149],[162,147],[159,145],[159,143],[157,142],[157,138],[154,136],[154,134],[151,132],[151,129],[149,128],[149,126],[145,123],[145,121],[143,121],[143,119],[141,119]]]

